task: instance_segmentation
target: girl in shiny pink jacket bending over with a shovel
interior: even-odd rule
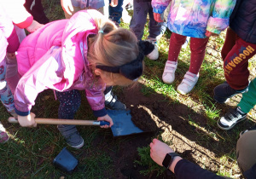
[[[151,43],[145,44],[154,49]],[[117,29],[93,9],[51,22],[29,35],[20,44],[17,63],[22,77],[15,90],[15,112],[21,126],[36,126],[30,110],[38,93],[52,89],[60,101],[59,118],[74,118],[81,102],[79,90],[85,90],[94,115],[111,127],[113,121],[104,106],[106,85],[132,84],[143,73],[143,53],[134,34]],[[58,130],[71,147],[83,147],[74,125],[58,125]]]

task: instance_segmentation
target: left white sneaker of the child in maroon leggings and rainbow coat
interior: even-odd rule
[[[166,84],[172,84],[175,79],[175,71],[177,69],[176,61],[166,61],[165,70],[163,72],[163,82]]]

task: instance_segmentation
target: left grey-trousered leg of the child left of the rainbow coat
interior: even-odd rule
[[[130,30],[135,33],[138,40],[143,38],[144,26],[147,22],[148,3],[133,0],[133,15]]]

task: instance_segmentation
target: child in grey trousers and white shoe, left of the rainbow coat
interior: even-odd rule
[[[138,40],[143,38],[144,26],[147,22],[147,15],[149,15],[149,36],[148,42],[154,44],[154,51],[148,55],[150,60],[157,60],[159,57],[156,38],[161,33],[162,22],[154,20],[153,8],[151,0],[137,1],[133,0],[133,15],[130,23],[130,30],[135,33]]]

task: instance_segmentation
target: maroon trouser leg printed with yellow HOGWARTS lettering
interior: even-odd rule
[[[248,60],[256,54],[256,44],[247,43],[241,38],[224,59],[224,76],[234,90],[243,90],[249,84]]]

